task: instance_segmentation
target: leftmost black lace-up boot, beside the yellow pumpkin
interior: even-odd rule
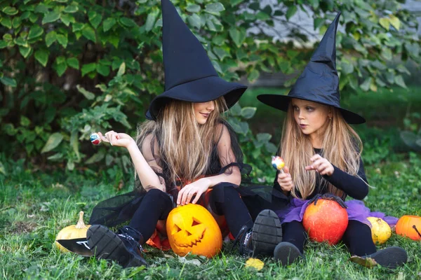
[[[122,267],[147,266],[143,258],[143,237],[134,228],[123,227],[117,233],[103,225],[91,225],[86,232],[88,246],[96,258],[114,260]]]

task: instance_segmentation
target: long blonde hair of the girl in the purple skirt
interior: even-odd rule
[[[323,135],[323,158],[339,169],[357,176],[360,164],[360,155],[363,151],[363,144],[360,137],[342,117],[342,114],[335,107],[330,107],[332,117],[328,121],[326,131]],[[305,166],[309,165],[309,159],[314,155],[314,148],[310,137],[303,134],[295,123],[292,103],[288,107],[286,120],[283,123],[281,149],[279,155],[289,167],[295,187],[291,190],[293,197],[305,200],[316,188],[317,172],[307,172]],[[345,199],[346,195],[328,183],[320,176],[321,186],[328,188],[329,193],[338,195]]]

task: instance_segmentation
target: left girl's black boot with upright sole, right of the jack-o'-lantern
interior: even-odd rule
[[[274,248],[282,241],[282,227],[274,211],[261,211],[255,219],[253,228],[246,225],[236,237],[239,253],[243,256],[272,255]]]

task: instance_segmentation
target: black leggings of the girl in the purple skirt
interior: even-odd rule
[[[303,253],[304,244],[307,240],[307,232],[305,232],[302,223],[298,221],[283,223],[282,232],[282,241],[294,244]],[[376,251],[373,239],[371,238],[370,227],[359,221],[348,221],[348,227],[345,230],[342,241],[348,247],[351,255],[370,255]]]

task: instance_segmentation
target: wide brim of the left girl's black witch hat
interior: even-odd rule
[[[146,113],[148,120],[156,120],[161,109],[172,99],[186,102],[208,102],[224,97],[227,107],[231,108],[247,90],[245,85],[230,83],[222,78],[210,76],[177,85],[155,97]]]

